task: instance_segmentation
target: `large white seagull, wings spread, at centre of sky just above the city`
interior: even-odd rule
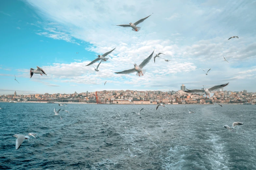
[[[155,50],[154,50],[155,51]],[[129,70],[124,70],[121,72],[115,72],[116,74],[130,74],[130,73],[134,73],[137,72],[136,76],[141,76],[140,73],[142,74],[142,76],[145,74],[146,70],[143,70],[142,68],[148,64],[148,62],[150,61],[150,59],[153,56],[154,51],[138,66],[137,64],[133,64],[134,68],[129,69]]]

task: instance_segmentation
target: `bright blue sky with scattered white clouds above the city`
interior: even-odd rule
[[[227,82],[224,90],[256,92],[255,7],[255,0],[0,1],[0,95],[177,91],[182,83],[201,89]],[[114,26],[150,14],[139,32]],[[84,66],[114,48],[100,71],[93,68],[98,62]],[[152,58],[142,77],[113,73],[153,51],[174,61]],[[47,76],[30,78],[36,66]]]

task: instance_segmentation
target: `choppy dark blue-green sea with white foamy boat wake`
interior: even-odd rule
[[[256,169],[256,105],[223,106],[0,103],[0,169]],[[11,136],[30,132],[15,150]]]

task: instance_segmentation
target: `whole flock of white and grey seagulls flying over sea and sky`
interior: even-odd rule
[[[153,13],[152,13],[153,14]],[[151,14],[151,15],[152,15]],[[151,16],[151,15],[149,15],[149,16]],[[140,19],[139,21],[136,21],[136,22],[134,22],[134,23],[129,23],[129,24],[122,24],[122,25],[116,25],[116,26],[121,26],[121,27],[131,27],[132,28],[132,31],[135,31],[135,32],[138,32],[140,29],[141,29],[141,27],[137,27],[137,25],[138,24],[140,24],[141,22],[143,22],[143,21],[145,21],[149,16],[147,16],[147,17],[145,17],[145,18],[143,18],[143,19]],[[232,36],[232,37],[230,37],[229,39],[231,39],[231,38],[238,38],[238,36]],[[229,40],[228,39],[228,40]],[[113,50],[115,50],[116,48],[114,48]],[[99,71],[98,70],[98,68],[99,68],[99,65],[101,64],[101,62],[106,62],[106,61],[108,61],[109,60],[109,58],[106,58],[106,56],[108,55],[108,54],[110,54],[113,50],[111,50],[111,51],[109,51],[109,52],[106,52],[106,53],[104,53],[103,55],[98,55],[98,58],[96,58],[95,60],[93,60],[92,62],[90,62],[89,64],[87,64],[87,65],[85,65],[85,66],[89,66],[89,65],[92,65],[92,64],[94,64],[94,63],[96,63],[97,61],[100,61],[99,62],[99,64],[97,65],[97,67],[95,68],[94,66],[94,70],[95,71]],[[155,51],[155,50],[154,50]],[[152,58],[152,56],[153,56],[153,53],[154,53],[154,51],[140,64],[140,65],[137,65],[137,64],[133,64],[134,65],[134,68],[131,68],[131,69],[128,69],[128,70],[124,70],[124,71],[120,71],[120,72],[114,72],[114,73],[116,73],[116,74],[131,74],[131,73],[134,73],[134,72],[137,72],[136,73],[136,76],[144,76],[144,74],[145,74],[145,72],[146,72],[146,70],[145,69],[143,69],[144,67],[145,67],[145,65],[147,64],[147,63],[149,63],[149,61],[151,60],[151,58]],[[78,54],[78,52],[77,52],[77,54]],[[155,63],[155,60],[156,60],[156,58],[158,57],[158,58],[162,58],[162,57],[160,57],[159,55],[160,54],[163,54],[163,53],[158,53],[158,54],[156,54],[155,55],[155,57],[154,57],[154,63]],[[165,55],[165,54],[163,54],[163,55]],[[226,60],[226,58],[223,56],[223,58],[224,58],[224,61],[227,61]],[[162,59],[164,59],[164,58],[162,58]],[[164,59],[166,62],[169,62],[169,61],[171,61],[171,60],[167,60],[167,59]],[[228,62],[228,61],[227,61]],[[211,68],[206,72],[206,75],[208,75],[208,72],[211,70]],[[204,70],[203,70],[204,71]],[[205,72],[205,71],[204,71]],[[33,74],[40,74],[40,75],[47,75],[44,71],[43,71],[43,69],[42,68],[40,68],[39,66],[37,66],[37,69],[35,70],[35,69],[33,69],[33,68],[30,68],[30,78],[32,78],[32,76],[33,76]],[[15,76],[15,75],[14,75]],[[15,80],[16,80],[16,76],[15,76]],[[17,80],[16,80],[17,81]],[[17,81],[18,82],[18,81]],[[18,82],[19,83],[19,82]],[[104,85],[107,83],[107,81],[104,83]],[[189,89],[186,89],[186,91],[184,91],[184,92],[188,92],[188,93],[204,93],[204,97],[212,97],[213,96],[213,94],[214,93],[212,93],[213,91],[215,91],[215,90],[217,90],[217,89],[220,89],[220,88],[223,88],[223,87],[225,87],[225,86],[227,86],[229,83],[226,83],[226,84],[222,84],[222,85],[217,85],[217,86],[213,86],[213,87],[211,87],[211,88],[203,88],[203,89],[193,89],[193,90],[189,90]],[[59,104],[59,106],[66,106],[67,104]],[[214,103],[214,105],[219,105],[219,106],[222,106],[222,105],[220,105],[220,104],[217,104],[217,103]],[[167,109],[168,109],[168,107],[165,105],[165,104],[163,104],[163,103],[161,103],[161,104],[158,104],[157,106],[156,106],[156,109],[155,110],[157,110],[158,109],[158,107],[159,106],[163,106],[163,107],[166,107]],[[186,105],[185,105],[186,106]],[[223,107],[223,106],[222,106]],[[0,108],[0,109],[2,109],[2,108]],[[140,109],[140,111],[138,112],[138,113],[136,113],[136,112],[133,112],[133,113],[136,113],[137,115],[141,115],[141,111],[143,110],[144,108],[142,108],[142,109]],[[59,111],[61,110],[61,108],[58,110],[58,111],[56,111],[56,109],[54,108],[54,115],[60,115],[59,114]],[[67,110],[62,110],[62,111],[65,111],[65,112],[68,112],[69,113],[69,111],[67,111]],[[189,113],[195,113],[195,112],[193,112],[193,111],[189,111],[188,110],[188,112]],[[69,115],[70,115],[70,113],[69,113]],[[119,115],[119,114],[118,114]],[[119,115],[120,116],[120,115]],[[62,118],[60,117],[60,119],[62,120]],[[214,119],[213,119],[214,120]],[[169,121],[167,121],[167,120],[165,120],[166,122],[168,122],[168,123],[171,123],[171,122],[169,122]],[[216,121],[216,120],[215,120]],[[105,122],[103,122],[105,125],[107,125]],[[102,123],[102,124],[103,124]],[[173,123],[171,123],[171,124],[173,124]],[[230,130],[231,132],[233,131],[233,129],[234,129],[234,127],[235,126],[237,126],[237,125],[242,125],[242,124],[244,124],[244,123],[241,123],[241,122],[234,122],[233,124],[232,124],[232,127],[229,127],[228,125],[225,125],[224,127],[225,128],[227,128],[228,130]],[[126,127],[125,127],[125,129],[126,129]],[[143,128],[144,129],[144,128]],[[144,129],[145,130],[145,129]],[[145,130],[145,132],[148,134],[148,135],[150,135],[146,130]],[[34,138],[36,138],[35,137],[35,135],[36,134],[34,134],[34,133],[29,133],[28,135],[31,135],[31,136],[33,136]],[[16,150],[17,149],[19,149],[20,148],[20,146],[21,146],[21,144],[23,143],[23,141],[25,140],[25,139],[28,139],[29,138],[29,136],[25,136],[25,135],[20,135],[20,134],[16,134],[16,135],[13,135],[14,137],[16,137],[17,138],[17,140],[16,140]],[[152,140],[153,141],[153,140]],[[153,144],[154,144],[154,141],[153,141]],[[154,144],[155,145],[155,144]],[[130,148],[128,148],[128,151],[130,152],[130,157],[137,157],[137,155],[134,155],[133,153],[132,153],[132,151],[130,150]],[[143,152],[143,151],[142,151]]]

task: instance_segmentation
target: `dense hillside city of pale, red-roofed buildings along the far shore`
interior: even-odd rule
[[[182,84],[179,91],[134,91],[111,90],[98,92],[82,92],[73,94],[44,93],[44,94],[14,94],[2,95],[0,102],[42,102],[42,103],[84,103],[84,104],[252,104],[256,102],[256,92],[247,90],[231,92],[223,88],[214,91],[213,97],[205,98],[203,94],[184,92]]]

